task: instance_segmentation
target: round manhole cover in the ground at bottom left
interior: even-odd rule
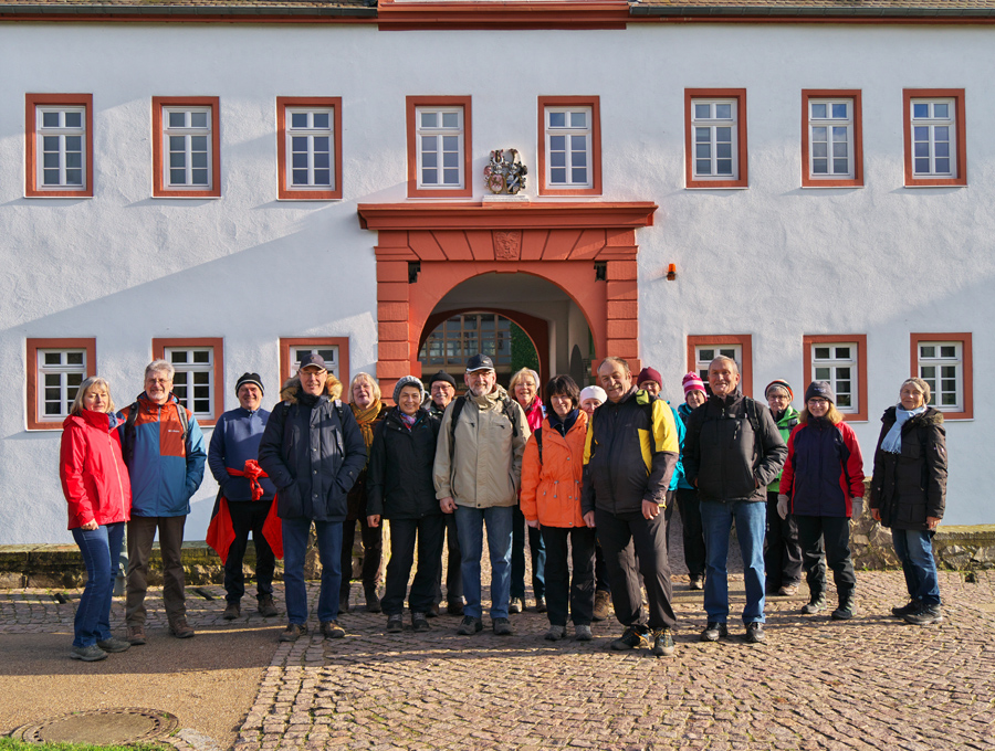
[[[11,736],[29,743],[93,743],[111,745],[165,738],[179,721],[156,709],[96,709],[70,712],[14,730]]]

